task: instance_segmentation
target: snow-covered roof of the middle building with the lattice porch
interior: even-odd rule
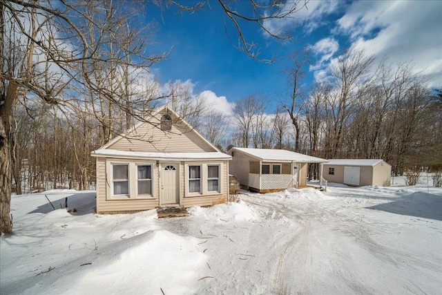
[[[259,158],[263,161],[278,161],[278,162],[298,162],[298,163],[324,163],[325,159],[311,157],[302,153],[295,153],[294,151],[287,151],[285,149],[246,149],[234,147],[233,151],[242,151],[252,157]]]

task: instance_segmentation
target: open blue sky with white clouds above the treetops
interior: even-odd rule
[[[248,3],[240,1],[238,10]],[[285,56],[305,46],[314,53],[303,81],[306,88],[351,47],[379,59],[386,55],[391,64],[413,61],[416,72],[430,75],[431,86],[442,85],[442,1],[310,1],[308,9],[296,13],[296,21],[267,23],[271,29],[291,30],[292,38],[286,41],[243,23],[247,39],[258,44],[259,57],[276,57],[272,64],[260,63],[235,48],[238,37],[218,1],[209,4],[211,8],[181,14],[175,8],[147,7],[146,19],[156,21],[158,27],[152,49],[173,46],[167,60],[153,70],[162,83],[180,80],[190,85],[193,95],[210,93],[213,104],[219,102],[225,113],[236,99],[252,93],[269,97],[268,112],[273,112],[289,91],[283,70],[290,64]]]

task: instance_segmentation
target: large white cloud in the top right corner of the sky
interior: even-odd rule
[[[415,73],[442,84],[441,1],[357,1],[337,21],[352,48],[392,64],[412,61]]]

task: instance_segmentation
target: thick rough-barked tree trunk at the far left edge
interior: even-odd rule
[[[12,109],[17,99],[17,85],[10,83],[0,106],[0,234],[12,234],[10,217],[12,185]]]

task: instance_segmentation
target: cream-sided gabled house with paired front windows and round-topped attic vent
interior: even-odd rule
[[[91,155],[97,161],[97,213],[226,202],[229,160],[169,106]]]

